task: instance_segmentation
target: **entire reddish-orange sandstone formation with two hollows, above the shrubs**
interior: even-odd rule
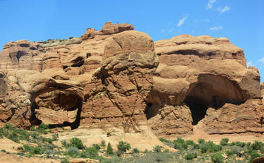
[[[81,38],[9,42],[0,54],[0,121],[23,128],[263,133],[263,95],[258,69],[226,38],[153,42],[106,23]]]

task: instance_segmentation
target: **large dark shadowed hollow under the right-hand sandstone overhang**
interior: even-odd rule
[[[193,125],[205,117],[209,107],[220,109],[225,103],[241,104],[246,92],[222,76],[202,75],[186,95],[184,102],[191,110]]]

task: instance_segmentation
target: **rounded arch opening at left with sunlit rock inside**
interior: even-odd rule
[[[49,124],[50,128],[78,128],[82,103],[79,95],[68,90],[53,89],[40,92],[32,105],[32,119],[35,124]]]

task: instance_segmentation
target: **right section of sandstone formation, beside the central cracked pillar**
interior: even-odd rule
[[[156,135],[192,133],[198,123],[210,134],[263,132],[260,76],[246,68],[242,49],[226,38],[181,35],[155,42],[155,50],[160,65],[147,110],[157,113],[148,120]]]

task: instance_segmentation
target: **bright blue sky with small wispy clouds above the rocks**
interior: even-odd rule
[[[131,23],[153,40],[181,34],[227,37],[264,78],[263,0],[0,0],[0,49],[15,40],[80,37],[107,21]]]

